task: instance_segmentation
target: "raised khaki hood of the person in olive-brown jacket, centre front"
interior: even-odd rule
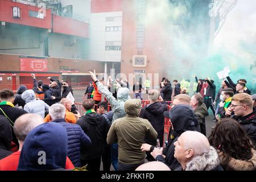
[[[133,117],[138,117],[140,110],[141,110],[141,100],[131,99],[131,100],[125,101],[126,114],[133,116]]]

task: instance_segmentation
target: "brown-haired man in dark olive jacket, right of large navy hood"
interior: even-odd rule
[[[200,93],[196,93],[191,97],[190,103],[199,121],[201,133],[206,136],[205,117],[207,117],[208,111],[207,106],[204,104],[204,98]]]

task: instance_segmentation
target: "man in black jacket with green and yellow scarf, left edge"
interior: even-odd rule
[[[23,109],[19,109],[14,107],[14,93],[11,90],[2,90],[0,92],[0,115],[6,117],[11,126],[14,125],[15,120],[20,117],[22,114],[26,114],[27,112]],[[13,132],[13,142],[19,146],[18,140]]]

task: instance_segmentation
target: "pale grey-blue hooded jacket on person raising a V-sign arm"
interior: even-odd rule
[[[109,105],[111,106],[113,110],[113,120],[112,123],[115,121],[115,119],[125,117],[125,101],[130,100],[131,97],[129,96],[129,89],[128,88],[119,88],[117,90],[117,99],[113,96],[111,92],[101,83],[97,82],[97,88],[100,91],[100,93],[104,94],[106,97],[106,100],[109,102]]]

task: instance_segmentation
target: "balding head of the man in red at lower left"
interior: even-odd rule
[[[14,123],[14,134],[20,142],[23,142],[32,129],[43,123],[44,119],[38,114],[23,114]]]

